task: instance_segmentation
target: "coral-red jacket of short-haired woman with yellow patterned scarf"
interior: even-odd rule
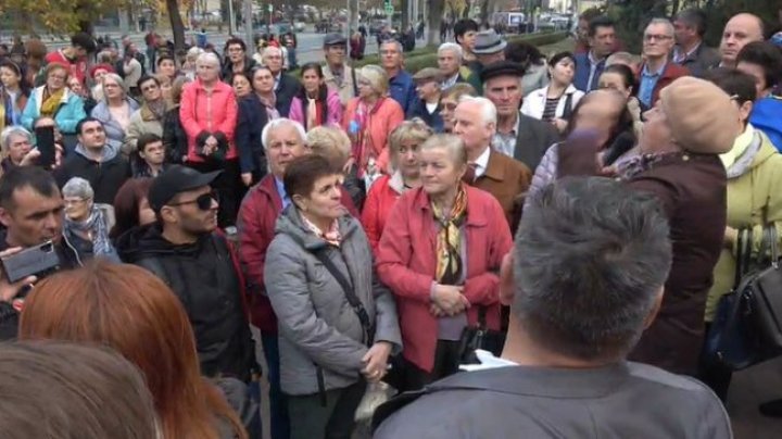
[[[478,306],[488,306],[487,324],[500,329],[500,265],[513,247],[510,229],[494,197],[466,187],[467,280],[464,296],[470,303],[467,319],[475,325]],[[393,291],[402,330],[404,358],[430,372],[434,365],[438,319],[429,313],[437,259],[438,226],[429,197],[411,189],[396,201],[377,249],[380,280]]]

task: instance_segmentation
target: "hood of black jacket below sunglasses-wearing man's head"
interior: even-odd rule
[[[134,230],[138,230],[134,235],[130,234]],[[150,256],[161,255],[180,255],[180,256],[195,256],[201,252],[201,248],[204,242],[207,241],[210,234],[203,235],[193,243],[175,244],[163,237],[163,228],[159,224],[152,224],[147,227],[133,228],[125,234],[121,235],[124,242],[128,244],[127,248],[123,249],[119,254],[123,261],[125,256],[128,256],[133,261],[139,261]],[[117,238],[119,240],[119,238]],[[118,251],[118,250],[117,250]]]

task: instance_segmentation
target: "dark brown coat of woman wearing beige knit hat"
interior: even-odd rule
[[[630,360],[694,375],[704,337],[704,310],[722,249],[726,171],[717,155],[668,155],[628,184],[654,193],[670,223],[673,262],[663,306]]]

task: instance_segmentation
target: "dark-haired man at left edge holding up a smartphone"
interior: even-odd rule
[[[18,311],[38,278],[58,268],[80,265],[78,254],[62,234],[64,202],[51,174],[37,166],[10,170],[0,179],[0,256],[52,241],[60,264],[46,273],[9,284],[0,276],[0,340],[16,338]]]

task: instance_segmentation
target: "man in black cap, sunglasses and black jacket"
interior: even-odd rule
[[[174,165],[157,176],[149,204],[157,223],[139,239],[131,262],[164,280],[180,299],[195,333],[205,376],[249,381],[255,352],[244,305],[244,283],[234,249],[217,230],[219,201],[201,174]]]

